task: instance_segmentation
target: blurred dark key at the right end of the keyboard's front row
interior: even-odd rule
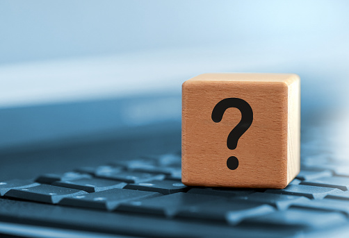
[[[301,208],[273,212],[247,219],[246,223],[265,226],[293,226],[303,228],[330,228],[346,222],[346,216],[339,212],[327,212]]]

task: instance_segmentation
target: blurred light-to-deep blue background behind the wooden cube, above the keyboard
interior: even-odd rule
[[[164,121],[179,144],[181,83],[206,72],[299,74],[302,120],[344,112],[348,12],[344,0],[1,1],[0,150]]]

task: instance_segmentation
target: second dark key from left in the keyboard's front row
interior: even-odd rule
[[[83,194],[63,198],[59,204],[70,205],[74,207],[90,207],[103,210],[114,210],[117,205],[134,199],[142,200],[144,198],[152,198],[161,196],[156,192],[145,192],[131,189],[110,189],[92,194]]]

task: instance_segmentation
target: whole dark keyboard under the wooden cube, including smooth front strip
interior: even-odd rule
[[[0,217],[138,237],[345,237],[349,168],[302,155],[285,189],[187,187],[180,151],[0,182]],[[20,209],[18,209],[20,207]]]

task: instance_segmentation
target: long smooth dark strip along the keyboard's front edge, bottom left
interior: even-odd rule
[[[0,199],[0,221],[141,237],[245,237],[248,230],[99,210]],[[239,236],[239,234],[241,236]]]

